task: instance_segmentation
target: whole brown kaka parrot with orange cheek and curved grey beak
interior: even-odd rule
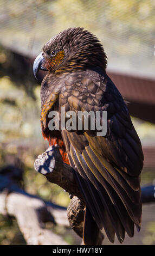
[[[95,245],[100,229],[109,241],[120,243],[125,232],[141,226],[140,173],[143,151],[126,102],[106,74],[107,57],[98,38],[83,28],[69,28],[53,36],[34,62],[34,75],[47,70],[41,84],[42,135],[58,144],[63,161],[75,170],[86,202],[85,245]],[[97,130],[54,130],[49,112],[106,111],[107,133]]]

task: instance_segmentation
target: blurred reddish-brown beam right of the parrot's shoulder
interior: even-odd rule
[[[155,80],[108,72],[133,117],[155,124]]]

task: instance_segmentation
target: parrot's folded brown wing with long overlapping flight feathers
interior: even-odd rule
[[[143,151],[125,102],[110,78],[90,70],[82,74],[73,74],[74,79],[69,82],[75,100],[66,88],[63,104],[76,113],[88,109],[107,111],[107,135],[96,136],[96,131],[62,131],[63,141],[98,228],[104,227],[110,241],[114,241],[116,234],[122,242],[125,231],[132,237],[134,225],[138,231],[141,225]]]

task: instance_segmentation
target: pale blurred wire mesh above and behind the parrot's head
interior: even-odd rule
[[[1,0],[0,43],[36,56],[51,36],[84,27],[104,45],[109,70],[154,78],[154,10],[154,0]]]

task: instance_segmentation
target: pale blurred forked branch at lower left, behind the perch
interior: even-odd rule
[[[28,245],[67,245],[61,236],[44,228],[44,222],[68,225],[66,209],[26,193],[20,188],[20,170],[0,172],[0,214],[14,216]]]

